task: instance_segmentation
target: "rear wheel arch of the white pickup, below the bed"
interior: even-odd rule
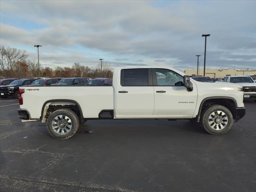
[[[46,122],[46,112],[49,108],[49,106],[51,104],[54,104],[56,106],[69,106],[74,104],[75,106],[78,107],[78,111],[79,111],[79,116],[80,116],[80,122],[84,123],[84,116],[83,116],[83,112],[82,112],[82,108],[80,106],[80,104],[75,101],[75,100],[70,100],[70,99],[52,99],[52,100],[47,100],[46,102],[44,102],[43,106],[42,106],[42,110],[41,110],[41,116],[40,119],[42,120],[42,122]]]

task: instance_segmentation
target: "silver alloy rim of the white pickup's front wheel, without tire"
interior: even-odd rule
[[[222,130],[228,124],[228,116],[223,111],[214,111],[208,118],[208,124],[214,130]]]

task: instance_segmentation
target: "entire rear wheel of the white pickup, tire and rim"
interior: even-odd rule
[[[46,121],[47,130],[56,139],[68,139],[78,130],[78,116],[70,109],[52,112]]]

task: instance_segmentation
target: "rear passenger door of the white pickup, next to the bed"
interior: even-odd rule
[[[116,82],[116,117],[148,117],[154,111],[151,69],[128,68],[118,72]]]

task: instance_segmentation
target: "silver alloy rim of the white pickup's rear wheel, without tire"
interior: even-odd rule
[[[60,135],[67,134],[72,128],[72,121],[68,116],[58,115],[52,120],[52,129]]]

